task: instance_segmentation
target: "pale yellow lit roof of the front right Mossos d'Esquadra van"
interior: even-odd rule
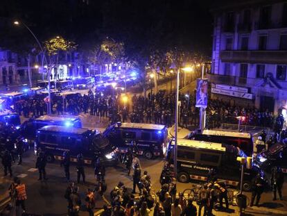
[[[173,140],[171,144],[175,144],[175,141]],[[197,141],[197,140],[178,139],[177,146],[191,147],[194,149],[211,149],[214,151],[225,151],[225,147],[223,147],[221,143],[205,142],[205,141]]]

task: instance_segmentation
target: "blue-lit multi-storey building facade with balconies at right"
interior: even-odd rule
[[[236,1],[211,12],[211,97],[275,114],[287,108],[287,1]]]

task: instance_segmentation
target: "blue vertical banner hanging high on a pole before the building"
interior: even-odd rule
[[[207,108],[207,85],[207,79],[197,79],[195,107]]]

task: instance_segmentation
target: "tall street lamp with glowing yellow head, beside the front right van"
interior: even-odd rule
[[[192,72],[192,67],[184,67],[177,69],[176,73],[176,89],[175,89],[175,147],[174,147],[174,156],[173,156],[173,166],[174,166],[174,176],[177,179],[177,126],[178,126],[178,89],[179,89],[179,80],[180,80],[180,70],[183,72]]]

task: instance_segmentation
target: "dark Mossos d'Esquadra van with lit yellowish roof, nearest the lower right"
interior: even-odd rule
[[[211,170],[216,178],[227,185],[239,186],[241,167],[236,160],[240,149],[214,142],[177,140],[177,179],[182,183],[189,181],[207,181]],[[174,140],[168,144],[166,167],[173,172]],[[244,169],[243,190],[251,189],[251,181],[256,176],[255,170]]]

